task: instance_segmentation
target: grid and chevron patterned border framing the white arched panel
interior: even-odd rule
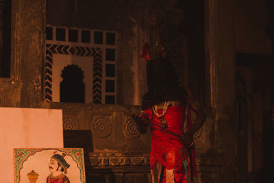
[[[89,62],[92,68],[88,70],[91,78],[88,77],[90,83],[86,87],[92,99],[88,103],[116,103],[116,33],[49,25],[46,37],[45,101],[58,101],[55,95],[59,93],[56,93],[56,84],[60,75],[56,78],[53,74],[53,66],[60,62],[54,60],[53,54],[58,54],[59,59],[62,55],[92,57],[92,63]]]

